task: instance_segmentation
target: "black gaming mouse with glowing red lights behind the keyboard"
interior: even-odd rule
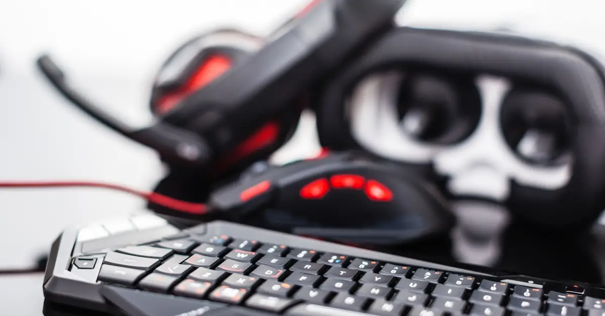
[[[357,152],[283,166],[259,163],[213,192],[229,220],[357,245],[401,245],[448,234],[455,218],[436,187]]]

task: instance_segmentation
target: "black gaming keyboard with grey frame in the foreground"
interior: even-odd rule
[[[471,271],[229,222],[178,230],[150,214],[65,231],[53,244],[44,294],[128,316],[605,316],[598,286]]]

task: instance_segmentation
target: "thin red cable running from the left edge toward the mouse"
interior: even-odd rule
[[[191,203],[170,198],[155,192],[144,192],[123,185],[88,182],[88,181],[49,181],[49,182],[0,182],[0,188],[42,188],[42,187],[97,187],[111,189],[140,196],[149,202],[191,214],[205,214],[208,207],[204,204]]]

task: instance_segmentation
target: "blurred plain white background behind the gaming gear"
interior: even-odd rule
[[[371,0],[368,0],[371,1]],[[240,27],[264,35],[306,0],[0,2],[0,181],[90,179],[151,189],[155,154],[108,132],[60,99],[36,73],[51,53],[87,94],[131,120],[149,118],[157,67],[194,34]],[[402,23],[462,29],[515,28],[605,52],[601,0],[410,0]],[[316,149],[313,119],[280,161]],[[139,199],[100,190],[0,191],[0,268],[28,265],[70,224],[125,214]]]

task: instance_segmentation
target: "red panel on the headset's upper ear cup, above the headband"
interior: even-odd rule
[[[165,113],[174,108],[183,98],[191,94],[203,86],[208,85],[214,79],[217,79],[221,74],[231,68],[231,59],[223,55],[209,56],[200,67],[195,71],[193,76],[189,78],[185,86],[178,88],[177,91],[163,95],[157,103],[157,111]]]

